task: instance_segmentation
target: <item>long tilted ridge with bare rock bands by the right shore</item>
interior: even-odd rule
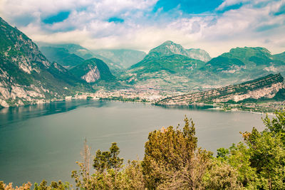
[[[271,74],[239,85],[167,97],[158,101],[157,105],[189,105],[193,102],[239,102],[247,99],[270,99],[281,90],[284,90],[284,78],[280,74]]]

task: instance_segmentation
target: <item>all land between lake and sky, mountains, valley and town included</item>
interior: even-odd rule
[[[285,52],[207,51],[165,41],[149,53],[33,42],[0,18],[0,107],[92,98],[221,110],[283,109]]]

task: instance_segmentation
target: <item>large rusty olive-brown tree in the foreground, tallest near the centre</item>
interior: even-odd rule
[[[195,125],[187,117],[182,131],[170,126],[150,132],[142,162],[147,188],[195,189],[210,157],[211,152],[197,149]]]

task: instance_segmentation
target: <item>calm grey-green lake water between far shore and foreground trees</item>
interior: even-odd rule
[[[215,152],[239,142],[239,132],[262,130],[259,114],[222,112],[204,107],[158,107],[133,102],[72,100],[0,110],[0,181],[73,181],[87,138],[94,155],[111,142],[120,157],[142,159],[147,135],[161,127],[195,122],[198,144]]]

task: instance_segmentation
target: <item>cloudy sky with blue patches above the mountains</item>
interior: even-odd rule
[[[146,53],[164,41],[215,57],[235,47],[285,51],[285,0],[0,0],[33,41]]]

